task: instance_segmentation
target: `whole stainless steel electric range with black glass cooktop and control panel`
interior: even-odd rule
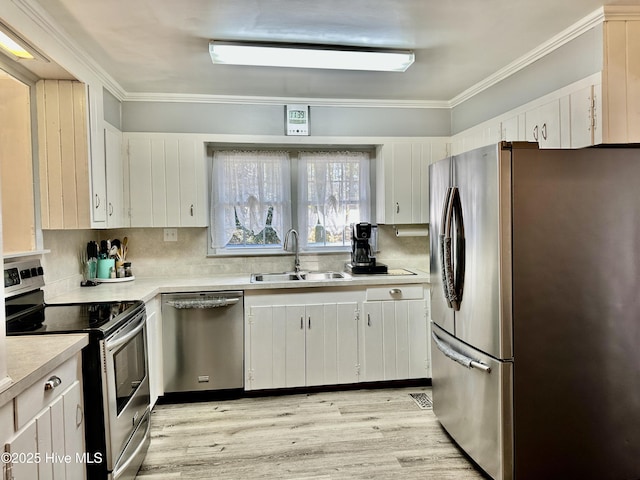
[[[8,335],[87,333],[82,380],[89,479],[133,479],[150,442],[142,302],[48,305],[39,261],[5,264]]]

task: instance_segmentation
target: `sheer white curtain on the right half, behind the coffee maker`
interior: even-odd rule
[[[369,154],[301,152],[299,159],[301,245],[348,245],[349,225],[370,221]]]

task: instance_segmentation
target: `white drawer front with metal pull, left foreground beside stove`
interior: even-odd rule
[[[80,353],[55,368],[47,375],[18,395],[14,400],[15,428],[18,431],[40,410],[48,407],[56,398],[69,388],[76,380],[80,379]],[[49,379],[57,377],[60,384],[54,388],[46,389]]]

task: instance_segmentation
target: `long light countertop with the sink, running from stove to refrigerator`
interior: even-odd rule
[[[205,292],[216,290],[273,290],[281,288],[339,288],[340,286],[398,285],[429,283],[429,274],[409,269],[415,275],[348,275],[344,279],[322,281],[251,283],[251,274],[212,275],[206,277],[143,277],[119,283],[102,283],[97,287],[78,287],[47,299],[47,303],[109,302],[117,300],[151,300],[159,293]]]

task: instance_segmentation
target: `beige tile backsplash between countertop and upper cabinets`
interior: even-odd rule
[[[80,252],[90,240],[129,239],[127,261],[136,277],[207,276],[232,273],[278,272],[293,268],[293,255],[257,257],[208,257],[206,228],[179,228],[176,242],[165,242],[162,228],[115,230],[45,230],[46,298],[78,288],[82,279]],[[427,237],[396,237],[391,226],[378,229],[377,260],[390,268],[429,270]],[[349,260],[348,253],[301,254],[303,269],[339,270]]]

